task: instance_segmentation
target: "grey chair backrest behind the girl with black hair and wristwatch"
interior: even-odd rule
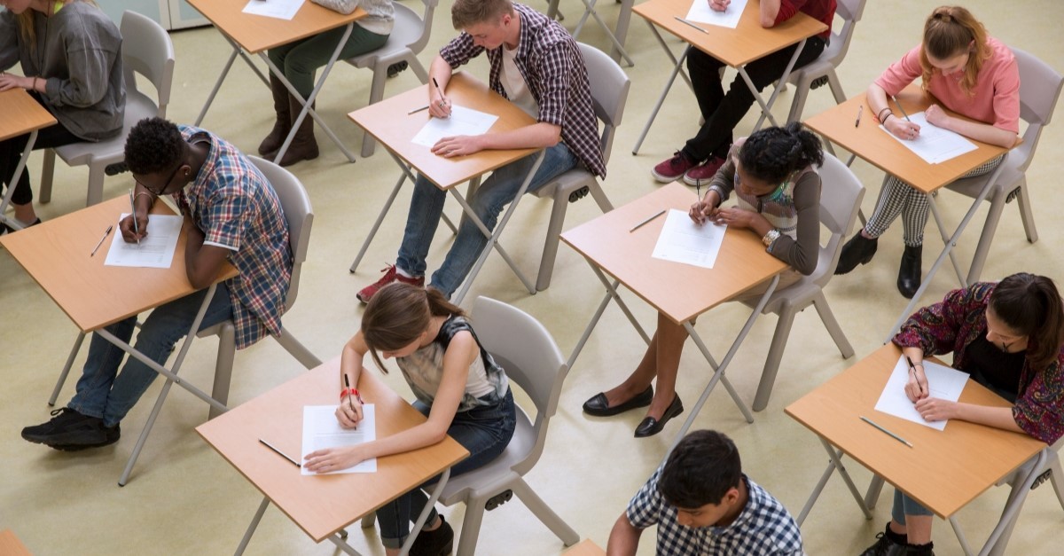
[[[843,252],[843,238],[853,229],[865,189],[846,164],[828,152],[824,153],[824,165],[819,173],[820,224],[831,235],[820,247],[816,269],[810,278],[824,288],[835,274],[838,257]]]

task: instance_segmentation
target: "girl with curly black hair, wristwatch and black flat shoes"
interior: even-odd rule
[[[766,128],[738,140],[709,182],[705,196],[691,207],[691,219],[747,228],[762,236],[766,250],[792,267],[780,275],[786,288],[816,268],[820,234],[820,141],[801,124]],[[734,192],[737,206],[720,208]],[[760,297],[764,288],[745,292]],[[650,406],[635,429],[637,438],[656,435],[683,412],[676,375],[687,330],[658,315],[658,330],[635,371],[619,386],[584,403],[589,415],[608,416]],[[650,386],[658,378],[658,391]]]

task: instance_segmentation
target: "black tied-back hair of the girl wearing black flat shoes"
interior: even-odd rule
[[[824,163],[820,138],[793,121],[782,128],[764,128],[749,137],[738,151],[743,169],[765,183],[781,183],[809,165]]]

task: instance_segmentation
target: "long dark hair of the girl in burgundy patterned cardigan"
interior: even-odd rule
[[[994,288],[990,307],[1005,326],[1028,338],[1027,359],[1034,371],[1057,361],[1064,346],[1064,306],[1052,280],[1028,273],[1009,276]]]

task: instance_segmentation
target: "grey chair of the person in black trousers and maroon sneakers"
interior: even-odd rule
[[[791,101],[791,112],[787,114],[787,121],[798,121],[801,119],[802,110],[805,108],[805,97],[809,96],[810,88],[814,88],[813,82],[819,79],[828,79],[828,85],[831,86],[831,94],[835,96],[836,104],[846,100],[846,94],[843,93],[843,85],[838,82],[835,68],[846,58],[846,52],[850,48],[850,40],[853,38],[853,28],[857,27],[858,21],[861,20],[861,16],[864,14],[866,1],[837,0],[835,14],[843,18],[843,28],[831,33],[830,44],[825,47],[824,52],[820,52],[820,55],[816,60],[800,68],[795,68],[787,78],[787,83],[795,85],[795,98]]]

